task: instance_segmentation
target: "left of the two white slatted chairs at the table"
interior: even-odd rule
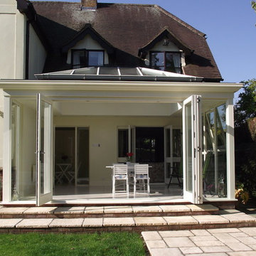
[[[124,181],[123,189],[117,190],[117,181]],[[129,198],[129,176],[128,176],[128,166],[127,164],[114,164],[113,176],[112,176],[112,196],[117,193],[127,193],[127,198]]]

